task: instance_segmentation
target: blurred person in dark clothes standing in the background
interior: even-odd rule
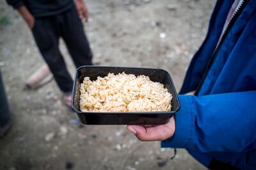
[[[17,9],[31,29],[35,42],[54,79],[64,93],[63,100],[71,107],[73,80],[59,49],[63,38],[76,68],[92,65],[92,51],[81,19],[88,20],[83,0],[6,0]]]

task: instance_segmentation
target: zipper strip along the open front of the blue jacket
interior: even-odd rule
[[[223,43],[223,41],[225,40],[227,34],[228,34],[228,31],[230,31],[231,27],[234,25],[234,23],[236,22],[236,19],[238,18],[239,14],[243,11],[244,9],[244,6],[246,6],[246,3],[248,3],[248,1],[244,0],[242,1],[239,6],[237,6],[237,9],[236,11],[233,13],[232,17],[230,17],[230,20],[228,21],[228,24],[227,26],[225,27],[223,33],[221,34],[220,36],[220,40],[218,41],[214,51],[212,52],[212,55],[211,55],[211,58],[209,59],[209,62],[207,63],[207,66],[205,68],[205,72],[204,72],[204,75],[201,79],[201,81],[199,82],[197,88],[196,88],[196,92],[195,92],[195,95],[197,96],[200,89],[202,88],[202,84],[204,84],[204,80],[205,80],[205,77],[208,73],[208,71],[210,70],[211,68],[211,65],[216,57],[216,54],[218,53],[218,51],[220,50],[220,47],[221,47],[221,44]]]

